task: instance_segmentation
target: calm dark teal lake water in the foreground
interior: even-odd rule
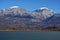
[[[60,32],[0,31],[0,40],[60,40]]]

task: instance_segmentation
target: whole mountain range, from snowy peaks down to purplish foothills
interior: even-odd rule
[[[0,10],[0,27],[59,27],[60,13],[47,7],[28,11],[19,6]]]

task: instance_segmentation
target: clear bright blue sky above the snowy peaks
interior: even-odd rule
[[[0,9],[11,6],[20,6],[30,11],[48,7],[56,12],[60,12],[60,0],[0,0]]]

